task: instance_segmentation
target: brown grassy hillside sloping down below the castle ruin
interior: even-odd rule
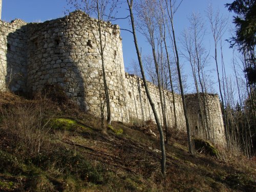
[[[50,96],[0,93],[0,191],[255,191],[253,160],[190,156],[185,134],[170,131],[163,178],[154,123],[102,130],[65,96]]]

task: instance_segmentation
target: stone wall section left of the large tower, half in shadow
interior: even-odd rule
[[[0,90],[26,91],[27,27],[22,20],[0,20]]]

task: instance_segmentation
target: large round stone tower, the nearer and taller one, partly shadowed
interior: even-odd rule
[[[127,121],[120,32],[111,24],[101,25],[112,118]],[[28,90],[39,91],[45,84],[58,83],[82,109],[100,116],[106,107],[97,20],[78,11],[30,24],[28,44]]]

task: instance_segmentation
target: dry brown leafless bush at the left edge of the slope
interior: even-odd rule
[[[3,110],[0,138],[4,148],[25,160],[46,150],[51,126],[44,103],[24,103]]]

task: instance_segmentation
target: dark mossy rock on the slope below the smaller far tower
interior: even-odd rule
[[[194,138],[195,149],[199,152],[209,154],[210,156],[218,156],[219,152],[217,148],[212,145],[210,142],[203,139]]]

